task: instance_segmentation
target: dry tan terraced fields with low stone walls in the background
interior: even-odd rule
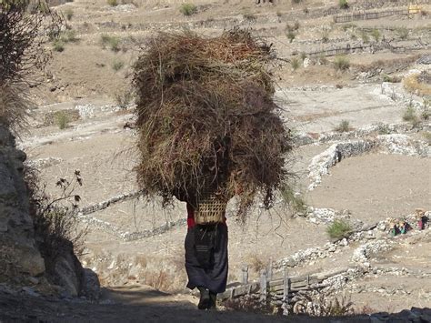
[[[250,280],[269,262],[275,276],[283,267],[291,277],[350,268],[325,291],[350,298],[358,314],[431,308],[431,226],[419,230],[415,219],[418,208],[431,218],[431,5],[419,1],[422,14],[336,23],[336,15],[361,10],[407,13],[408,3],[356,0],[348,9],[326,0],[194,3],[194,15],[183,15],[174,0],[55,6],[69,29],[61,44],[47,44],[53,60],[42,85],[31,89],[37,106],[18,147],[51,197],[58,178],[80,170],[77,218],[87,231],[80,260],[105,291],[98,305],[71,301],[57,314],[48,307],[27,317],[16,305],[5,320],[205,319],[187,314],[197,298],[185,288],[185,205],[162,208],[138,195],[131,68],[158,31],[219,35],[235,26],[264,37],[280,57],[276,99],[295,136],[289,163],[296,178],[289,206],[281,197],[268,211],[256,205],[245,225],[231,201],[228,283],[241,281],[244,265]],[[329,53],[346,45],[356,49]],[[392,237],[388,218],[406,219],[412,230]],[[355,233],[328,237],[336,219]],[[23,304],[31,304],[27,298]],[[5,299],[0,294],[0,305]],[[264,318],[221,308],[207,319]]]

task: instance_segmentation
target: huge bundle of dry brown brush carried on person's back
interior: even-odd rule
[[[248,31],[150,39],[135,63],[137,180],[148,196],[208,189],[270,207],[286,182],[291,138],[274,102],[270,46]]]

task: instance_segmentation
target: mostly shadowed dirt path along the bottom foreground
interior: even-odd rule
[[[138,289],[138,288],[135,288]],[[167,298],[165,301],[164,298]],[[116,299],[116,300],[115,300]],[[119,302],[121,300],[121,303]],[[424,318],[431,318],[431,309]],[[409,322],[405,313],[396,322]],[[420,319],[420,318],[419,318]],[[386,320],[391,322],[392,320]],[[416,320],[417,322],[429,322]],[[415,321],[415,322],[416,322]],[[310,318],[306,316],[265,316],[237,311],[200,311],[186,300],[155,290],[105,289],[102,303],[80,299],[58,299],[7,294],[0,291],[0,322],[379,322],[369,316]],[[413,320],[412,320],[413,322]]]

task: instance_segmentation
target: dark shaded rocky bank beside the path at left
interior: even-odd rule
[[[30,216],[25,158],[25,153],[15,147],[15,136],[0,125],[0,284],[30,293],[97,298],[98,279],[81,266],[71,243],[60,256],[43,257],[46,237],[36,234],[41,230]],[[51,270],[47,270],[46,261]]]

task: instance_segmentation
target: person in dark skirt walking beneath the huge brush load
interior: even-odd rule
[[[178,198],[178,197],[177,197]],[[227,282],[227,226],[225,212],[219,223],[197,224],[195,198],[187,200],[187,235],[185,236],[185,270],[187,288],[199,289],[197,308],[216,308],[218,293],[226,290]]]

